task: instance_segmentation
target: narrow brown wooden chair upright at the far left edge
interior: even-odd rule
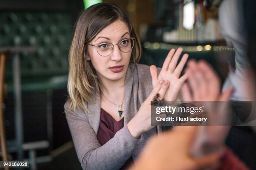
[[[0,140],[1,140],[1,155],[2,155],[3,161],[8,161],[6,143],[5,143],[5,125],[4,125],[4,115],[3,115],[5,59],[6,59],[6,53],[0,53]],[[8,170],[8,168],[6,167],[5,170]]]

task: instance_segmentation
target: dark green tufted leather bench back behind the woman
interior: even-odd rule
[[[63,89],[67,84],[72,22],[64,12],[0,12],[0,47],[33,46],[20,54],[22,91]],[[8,92],[13,92],[12,63],[6,67]]]

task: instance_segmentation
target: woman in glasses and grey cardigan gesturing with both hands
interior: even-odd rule
[[[140,41],[119,7],[100,3],[82,13],[69,52],[64,108],[83,169],[128,168],[161,131],[151,126],[150,103],[157,93],[159,100],[175,100],[187,78],[180,74],[188,55],[177,65],[182,49],[174,52],[158,75],[155,66],[136,64]]]

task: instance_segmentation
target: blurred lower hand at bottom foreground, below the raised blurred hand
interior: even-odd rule
[[[179,126],[154,136],[146,144],[138,161],[130,170],[199,170],[215,167],[223,154],[215,153],[200,159],[189,155],[196,126]]]

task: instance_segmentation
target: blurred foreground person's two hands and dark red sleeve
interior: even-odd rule
[[[189,78],[182,87],[184,100],[227,101],[230,87],[220,93],[220,79],[205,61],[188,62]],[[212,87],[214,86],[214,88]],[[210,110],[214,114],[214,110]],[[223,112],[225,114],[225,112]],[[249,170],[225,146],[229,126],[179,126],[148,141],[131,170]],[[205,131],[205,133],[201,133]],[[199,143],[199,145],[198,145]],[[215,149],[205,152],[208,147]],[[199,155],[196,156],[195,155]]]

